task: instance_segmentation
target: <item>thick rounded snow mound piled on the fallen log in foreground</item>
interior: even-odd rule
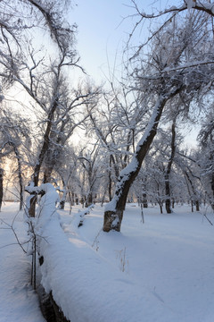
[[[160,322],[174,320],[174,313],[152,292],[139,289],[128,275],[112,269],[78,235],[69,240],[56,217],[46,226],[44,236],[40,244],[45,258],[42,284],[46,292],[53,292],[54,300],[70,321],[139,322],[144,311],[149,312],[144,321],[155,321],[157,311],[164,317]]]

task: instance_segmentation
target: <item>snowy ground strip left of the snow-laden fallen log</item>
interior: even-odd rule
[[[0,218],[12,223],[18,204],[6,204]],[[23,214],[17,216],[14,227],[23,238]],[[45,322],[37,301],[37,295],[29,285],[29,258],[20,246],[14,244],[11,230],[0,225],[0,322]],[[9,246],[6,246],[9,245]]]

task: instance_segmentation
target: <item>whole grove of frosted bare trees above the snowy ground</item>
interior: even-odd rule
[[[105,232],[120,231],[128,201],[165,206],[171,216],[177,202],[214,209],[214,4],[180,1],[144,13],[131,0],[126,72],[100,86],[84,78],[74,85],[73,71],[85,71],[77,26],[64,19],[68,5],[0,2],[0,208],[13,186],[20,208],[24,191],[31,194],[35,216],[34,187],[52,182],[61,208],[66,200],[105,203]],[[133,46],[148,20],[151,34]],[[201,129],[193,147],[186,124]]]

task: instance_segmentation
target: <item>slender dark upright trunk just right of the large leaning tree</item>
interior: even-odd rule
[[[172,138],[171,138],[171,155],[169,157],[169,162],[167,166],[167,171],[165,174],[165,191],[166,191],[166,201],[165,201],[165,207],[168,214],[172,213],[171,210],[171,192],[170,192],[170,184],[169,184],[169,174],[171,172],[171,166],[173,163],[173,159],[175,157],[176,153],[176,119],[173,120],[172,127]]]

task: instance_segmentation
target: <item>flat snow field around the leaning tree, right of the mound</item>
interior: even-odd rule
[[[99,207],[85,217],[78,235],[72,225],[65,225],[71,243],[75,236],[77,245],[80,244],[77,241],[86,242],[89,247],[93,246],[97,258],[103,258],[103,266],[87,267],[88,272],[96,271],[98,280],[105,278],[113,282],[111,293],[108,288],[102,289],[103,284],[96,289],[99,300],[104,292],[103,305],[109,297],[119,305],[123,318],[128,318],[120,319],[115,310],[117,322],[137,322],[143,316],[148,322],[213,322],[213,226],[202,214],[192,214],[187,207],[177,208],[172,215],[159,215],[158,208],[144,209],[144,213],[142,225],[139,208],[128,206],[121,233],[99,233],[103,224],[103,209]],[[64,222],[69,222],[69,216],[62,217]],[[86,266],[84,258],[82,266]],[[120,275],[120,282],[127,284],[124,293],[120,292],[117,278],[109,277],[115,272]],[[136,309],[130,317],[133,297]],[[108,309],[108,305],[103,307],[111,317]]]

